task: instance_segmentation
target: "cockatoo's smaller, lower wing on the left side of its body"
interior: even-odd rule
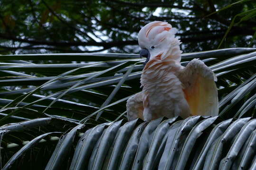
[[[142,92],[136,93],[127,100],[126,103],[127,109],[127,119],[129,121],[137,118],[143,120],[143,95]]]

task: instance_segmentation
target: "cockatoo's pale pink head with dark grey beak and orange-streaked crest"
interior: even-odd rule
[[[173,59],[180,62],[180,40],[175,37],[177,29],[167,22],[154,21],[143,26],[138,34],[140,56],[146,64],[152,59]]]

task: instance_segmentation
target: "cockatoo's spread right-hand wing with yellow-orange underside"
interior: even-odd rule
[[[178,73],[192,115],[218,116],[218,92],[213,71],[193,59]]]

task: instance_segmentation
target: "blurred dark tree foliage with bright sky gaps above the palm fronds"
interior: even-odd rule
[[[217,49],[231,23],[219,48],[256,47],[255,12],[243,15],[255,7],[255,0],[0,0],[0,54],[138,53],[137,33],[152,21],[178,28],[184,52]]]

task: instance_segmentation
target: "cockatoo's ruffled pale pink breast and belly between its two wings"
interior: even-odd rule
[[[190,115],[182,83],[176,76],[182,66],[155,64],[154,67],[157,69],[144,69],[141,76],[143,106],[148,110],[145,114],[143,112],[144,117]]]

